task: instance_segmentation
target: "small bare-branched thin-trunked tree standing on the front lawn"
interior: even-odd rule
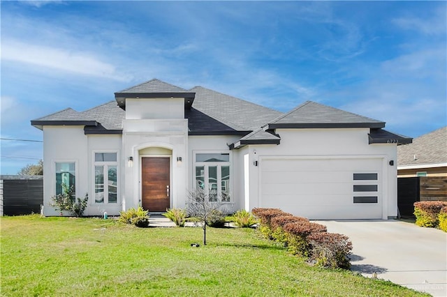
[[[221,211],[223,204],[220,199],[215,199],[215,193],[207,194],[203,189],[189,192],[188,215],[197,218],[203,226],[203,245],[207,244],[207,226],[215,220],[215,213]],[[210,201],[211,199],[211,201]]]

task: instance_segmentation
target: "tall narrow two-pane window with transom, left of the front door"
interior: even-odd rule
[[[95,153],[95,203],[117,203],[117,153]]]

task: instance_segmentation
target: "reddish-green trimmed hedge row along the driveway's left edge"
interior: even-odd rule
[[[318,266],[349,269],[352,243],[347,236],[330,234],[322,224],[285,213],[279,208],[254,208],[261,233],[288,248],[292,254],[308,257]]]

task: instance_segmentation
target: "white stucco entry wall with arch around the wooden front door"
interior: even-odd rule
[[[184,207],[187,188],[186,170],[189,162],[186,119],[124,120],[122,147],[124,159],[133,158],[133,166],[125,165],[123,170],[123,209],[141,204],[141,158],[147,155],[166,155],[166,150],[172,151],[170,207]],[[177,162],[177,157],[181,157],[182,162]]]

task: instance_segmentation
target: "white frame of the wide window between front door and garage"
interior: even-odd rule
[[[197,162],[196,156],[200,153],[219,153],[219,154],[228,154],[229,160],[228,162]],[[230,192],[228,192],[228,195],[230,196],[229,201],[216,201],[219,203],[233,203],[233,152],[232,151],[193,151],[193,189],[197,189],[197,181],[196,181],[196,167],[203,166],[204,167],[204,181],[205,181],[205,193],[207,195],[210,194],[210,172],[209,167],[217,167],[217,197],[220,197],[221,199],[221,191],[222,191],[222,166],[228,166],[229,167],[229,174],[230,174]]]

